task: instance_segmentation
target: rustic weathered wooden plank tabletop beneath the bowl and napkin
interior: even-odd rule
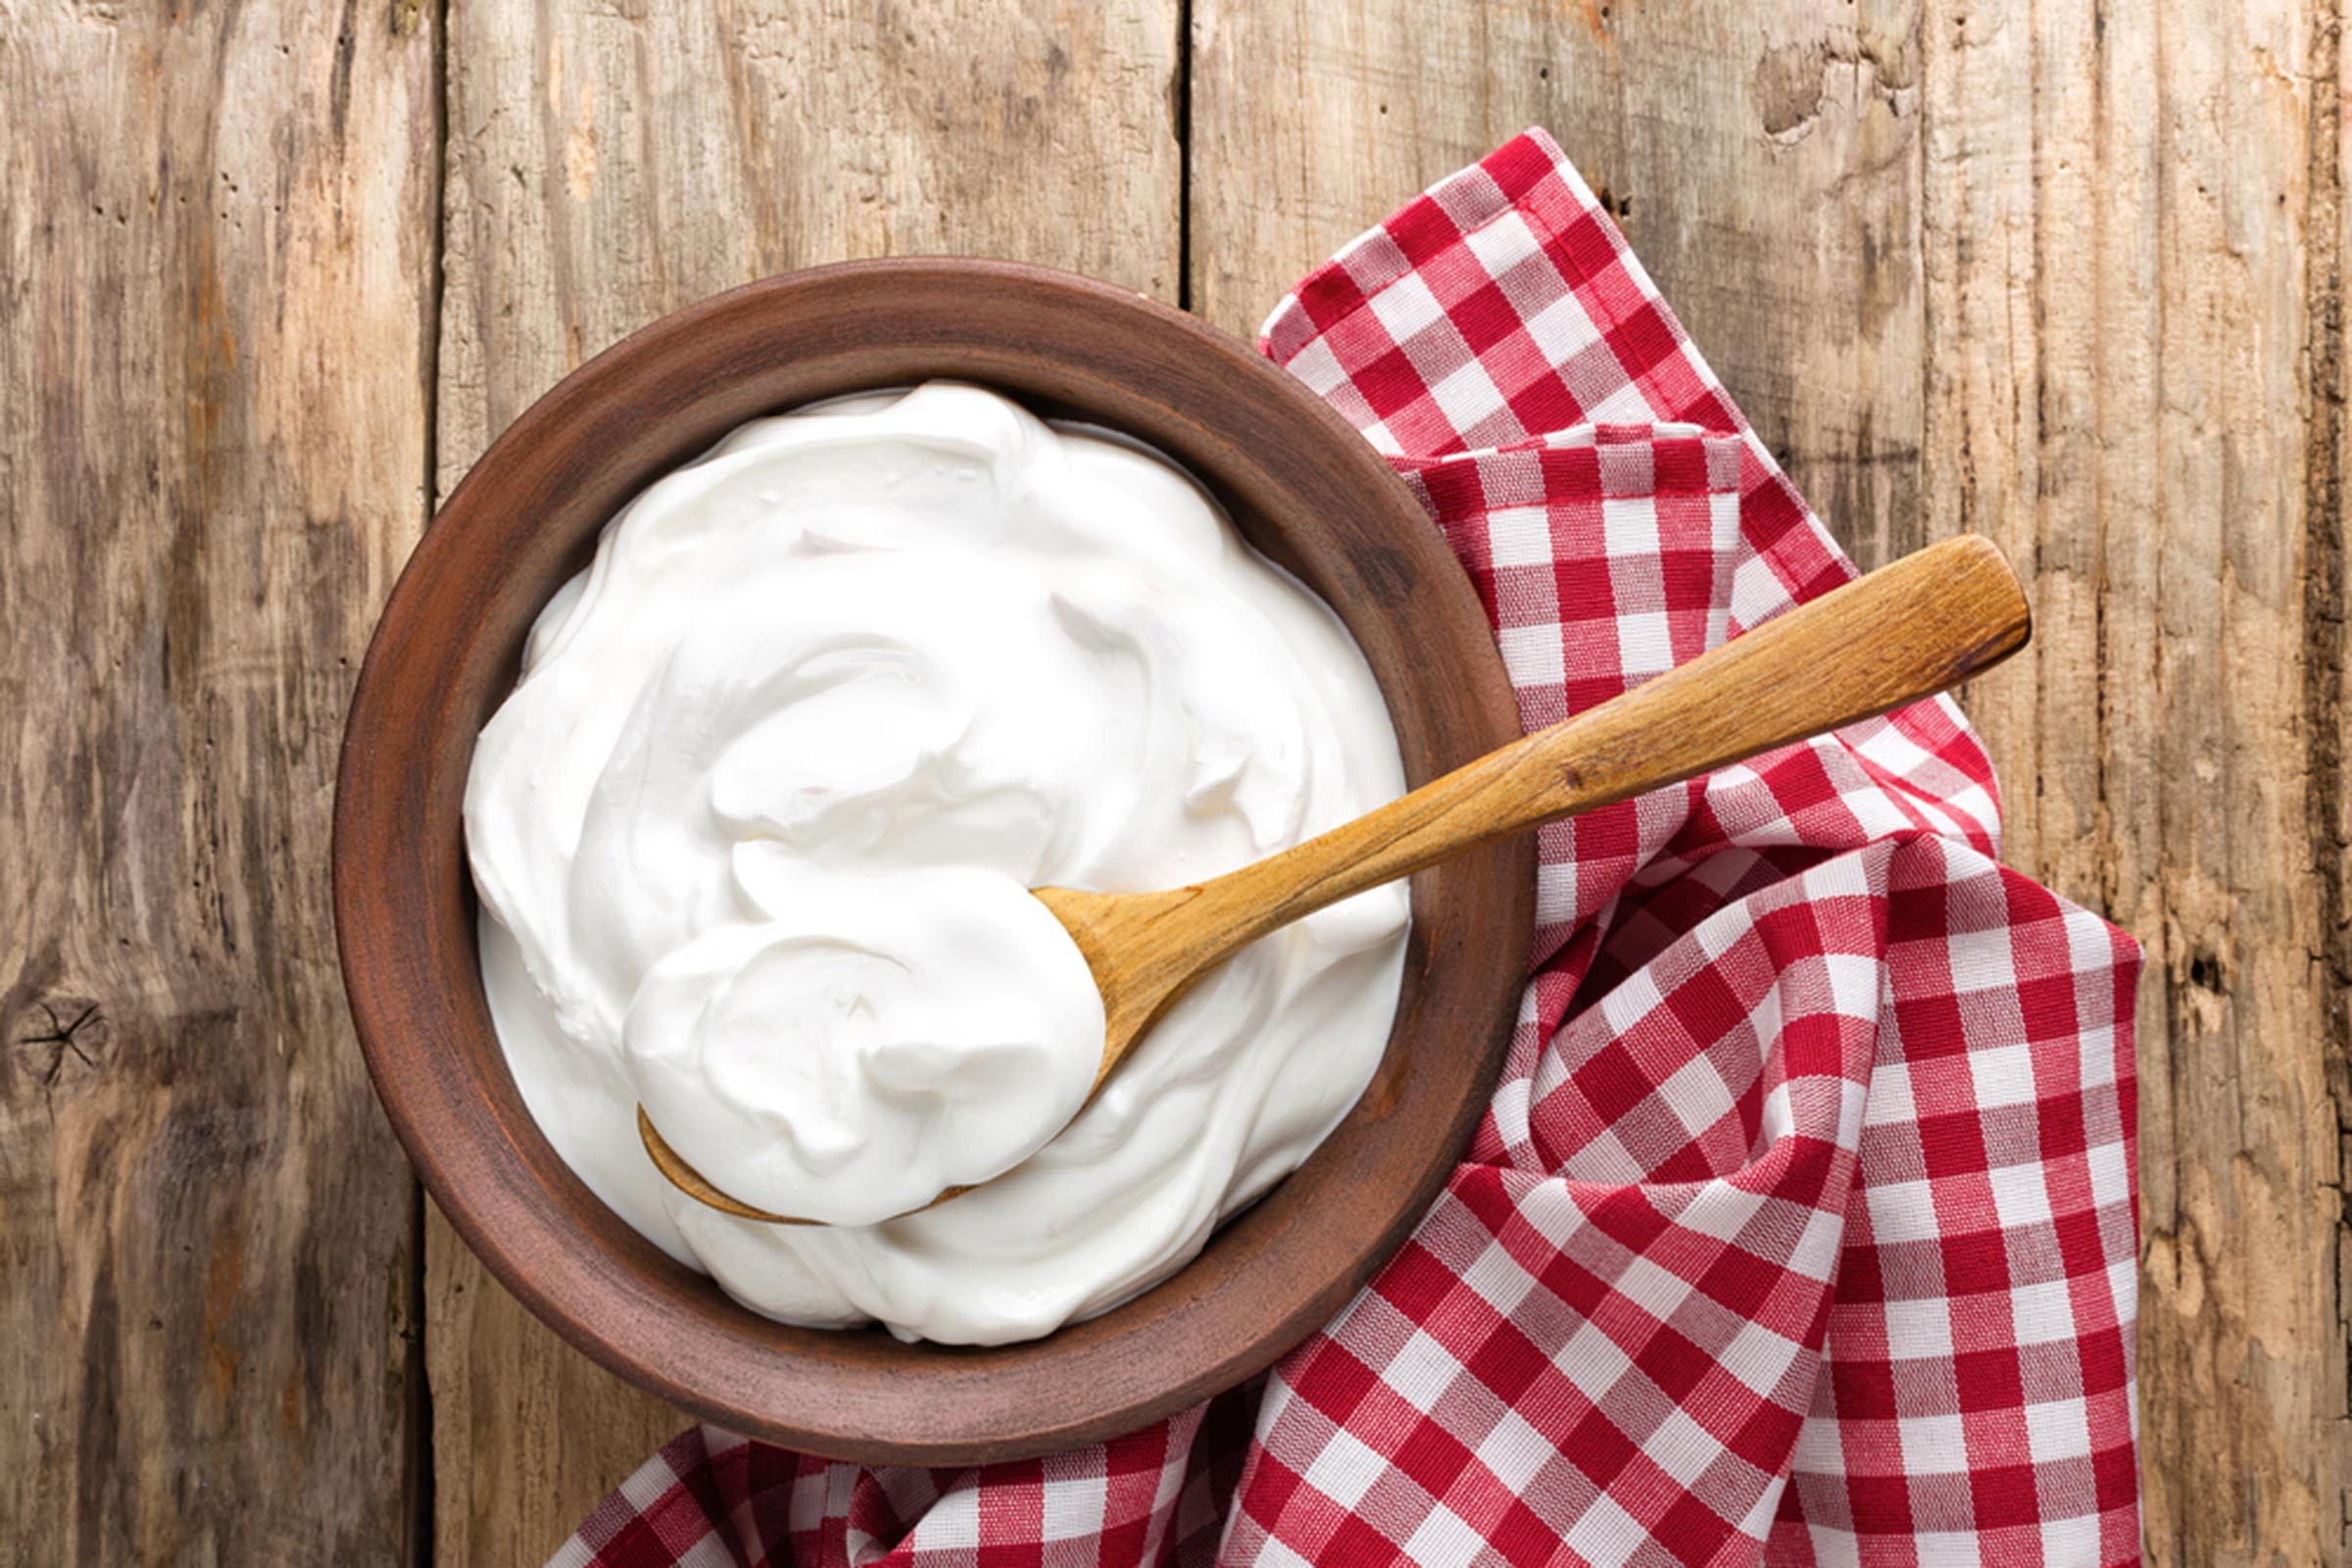
[[[2147,943],[2164,1563],[2345,1561],[2345,125],[2317,0],[0,5],[0,1559],[536,1563],[680,1418],[419,1197],[327,914],[433,496],[640,322],[988,252],[1249,331],[1541,122]]]

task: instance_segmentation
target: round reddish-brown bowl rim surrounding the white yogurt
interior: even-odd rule
[[[623,501],[746,418],[927,376],[1077,411],[1183,461],[1355,632],[1411,783],[1519,733],[1494,635],[1428,515],[1249,346],[1028,266],[830,266],[720,294],[597,355],[456,487],[353,696],[334,914],[383,1110],[459,1234],[532,1312],[736,1432],[844,1460],[964,1465],[1207,1399],[1374,1274],[1491,1093],[1534,929],[1534,846],[1522,837],[1414,879],[1404,994],[1362,1103],[1195,1262],[1094,1321],[1000,1349],[786,1328],[637,1237],[555,1157],[492,1032],[459,820],[475,733],[515,684],[532,616]]]

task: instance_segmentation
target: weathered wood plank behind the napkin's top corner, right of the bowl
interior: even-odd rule
[[[1192,301],[1256,331],[1310,266],[1529,125],[1839,538],[1919,508],[1917,5],[1197,0]]]

